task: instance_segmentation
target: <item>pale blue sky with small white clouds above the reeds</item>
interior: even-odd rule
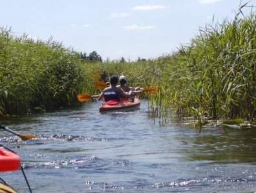
[[[240,0],[1,0],[0,26],[105,59],[155,59],[198,28],[233,19]],[[248,1],[242,0],[242,5]],[[251,0],[249,5],[256,5]],[[245,9],[248,14],[250,9]],[[246,13],[247,12],[247,13]]]

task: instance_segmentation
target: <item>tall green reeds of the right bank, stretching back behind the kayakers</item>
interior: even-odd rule
[[[199,123],[218,118],[255,119],[256,20],[241,5],[234,19],[200,28],[189,45],[157,59],[107,62],[93,66],[103,77],[125,75],[130,86],[158,86],[149,107],[165,122],[195,116]],[[95,68],[96,67],[96,68]],[[107,81],[107,79],[104,79]]]

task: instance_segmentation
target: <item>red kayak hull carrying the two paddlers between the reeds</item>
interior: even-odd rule
[[[128,98],[121,98],[121,100],[109,100],[100,106],[100,112],[105,113],[109,111],[127,111],[140,107],[140,100],[134,97],[134,100]]]

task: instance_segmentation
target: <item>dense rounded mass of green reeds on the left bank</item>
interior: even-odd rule
[[[80,59],[58,42],[0,29],[0,115],[71,106],[83,84]]]

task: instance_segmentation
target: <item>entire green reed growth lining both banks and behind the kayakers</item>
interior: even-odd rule
[[[242,8],[243,6],[241,6]],[[172,116],[255,119],[256,19],[238,14],[232,21],[200,28],[191,44],[157,59],[136,62],[85,60],[86,55],[54,41],[0,34],[0,115],[78,105],[76,95],[98,94],[91,74],[107,82],[125,75],[130,86],[158,86],[151,108]],[[143,97],[143,96],[141,96]]]

